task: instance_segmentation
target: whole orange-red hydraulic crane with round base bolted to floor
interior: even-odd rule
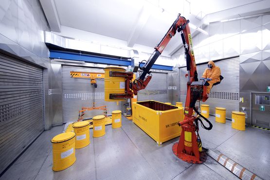
[[[177,157],[185,162],[202,163],[206,160],[207,156],[205,151],[200,150],[201,140],[198,134],[198,121],[200,121],[202,127],[207,130],[212,129],[212,124],[205,117],[203,117],[198,112],[198,108],[195,107],[196,101],[201,100],[204,102],[207,100],[208,95],[206,94],[206,87],[204,86],[206,82],[198,81],[198,73],[196,69],[192,39],[188,23],[189,20],[181,17],[180,14],[178,15],[177,19],[171,25],[166,35],[155,47],[154,53],[145,62],[144,66],[141,67],[139,65],[139,68],[142,70],[140,77],[134,80],[129,87],[133,90],[134,94],[137,95],[139,90],[143,90],[147,86],[152,77],[150,72],[151,67],[159,55],[162,54],[162,51],[167,46],[171,38],[175,36],[176,32],[179,32],[185,50],[187,68],[186,77],[188,78],[188,82],[187,96],[184,108],[185,117],[182,122],[179,122],[179,126],[182,128],[182,132],[179,143],[173,145],[173,152]],[[197,112],[197,116],[193,115],[193,110]],[[209,124],[209,127],[204,126],[199,117],[202,117]]]

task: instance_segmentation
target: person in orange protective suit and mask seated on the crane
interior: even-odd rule
[[[212,79],[211,81],[208,81],[208,83],[210,85],[207,86],[207,93],[209,94],[210,93],[210,90],[213,87],[213,84],[215,84],[216,82],[219,82],[220,81],[220,77],[219,76],[221,75],[221,71],[220,71],[219,67],[215,65],[215,63],[213,61],[209,61],[208,64],[212,64],[213,67],[211,69],[207,68],[203,72],[202,77],[203,78],[210,78],[210,79]]]

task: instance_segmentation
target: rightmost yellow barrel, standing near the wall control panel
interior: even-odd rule
[[[238,130],[246,130],[245,123],[246,123],[246,113],[233,111],[232,112],[232,127]]]

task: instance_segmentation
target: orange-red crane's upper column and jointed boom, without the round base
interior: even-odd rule
[[[181,34],[181,39],[183,42],[183,46],[185,49],[185,59],[186,59],[186,67],[187,67],[187,76],[188,76],[188,84],[187,84],[187,97],[186,97],[186,103],[185,103],[185,114],[188,114],[189,116],[192,116],[193,114],[193,106],[195,105],[194,102],[196,100],[203,100],[205,101],[207,99],[206,90],[204,90],[204,94],[202,94],[203,91],[200,91],[201,93],[198,94],[198,97],[192,96],[191,92],[191,84],[194,81],[198,81],[198,73],[196,69],[196,63],[195,63],[195,57],[192,47],[192,39],[190,34],[190,28],[189,28],[189,20],[187,20],[184,17],[181,17],[180,14],[174,21],[174,23],[171,25],[165,36],[162,38],[160,43],[155,47],[154,53],[150,56],[150,58],[146,61],[143,67],[139,68],[143,71],[140,74],[140,77],[133,81],[132,84],[132,90],[135,95],[137,95],[139,90],[143,90],[149,81],[151,80],[150,75],[150,69],[153,66],[153,64],[156,62],[157,58],[162,54],[162,51],[167,46],[169,41],[173,36],[175,36],[176,32],[179,32]],[[148,76],[146,76],[149,74]],[[198,84],[198,83],[197,83]],[[194,85],[196,86],[195,90],[198,90],[199,88],[202,89],[203,86],[201,85]],[[203,88],[204,89],[204,88]]]

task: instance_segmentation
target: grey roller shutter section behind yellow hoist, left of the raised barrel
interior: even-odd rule
[[[122,102],[105,102],[104,101],[104,79],[97,79],[97,88],[95,95],[93,86],[90,84],[89,78],[71,78],[70,72],[104,72],[103,69],[87,68],[78,66],[62,66],[62,105],[63,105],[63,123],[76,121],[78,119],[79,110],[82,107],[92,107],[93,98],[95,106],[107,106],[108,115],[113,110],[121,110]],[[87,111],[83,116],[84,119],[92,118],[96,115],[103,114],[103,110]]]

